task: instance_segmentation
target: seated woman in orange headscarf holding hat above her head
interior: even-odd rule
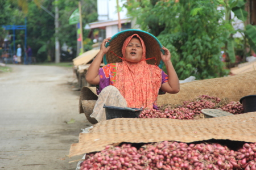
[[[103,104],[157,109],[156,100],[159,90],[170,94],[179,92],[179,78],[172,66],[171,53],[167,48],[162,47],[164,54],[160,52],[159,48],[155,57],[146,57],[146,55],[150,55],[149,50],[147,50],[147,48],[150,49],[150,46],[147,45],[146,48],[142,37],[139,36],[140,33],[139,31],[131,32],[124,41],[122,37],[115,37],[115,39],[120,39],[123,42],[115,43],[122,44],[122,57],[116,54],[118,50],[116,53],[114,52],[115,49],[118,49],[114,47],[115,44],[106,47],[106,43],[110,42],[111,38],[105,39],[101,44],[100,52],[86,73],[87,82],[100,86],[98,87],[100,95],[93,113],[90,115],[90,117],[96,118],[98,122],[106,120],[105,110],[102,108]],[[148,34],[148,36],[150,35]],[[109,63],[99,70],[102,58],[106,53],[109,53],[109,50],[115,58],[121,58],[122,61]],[[162,59],[168,75],[157,64],[148,64],[146,61],[149,59],[155,59],[155,61]]]

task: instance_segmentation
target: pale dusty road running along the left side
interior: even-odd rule
[[[9,66],[0,73],[0,169],[76,169],[69,162],[82,156],[68,158],[69,148],[92,124],[78,112],[72,69]]]

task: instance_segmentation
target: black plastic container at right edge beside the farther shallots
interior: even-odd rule
[[[243,113],[256,112],[256,95],[243,96],[240,103],[243,105]]]

